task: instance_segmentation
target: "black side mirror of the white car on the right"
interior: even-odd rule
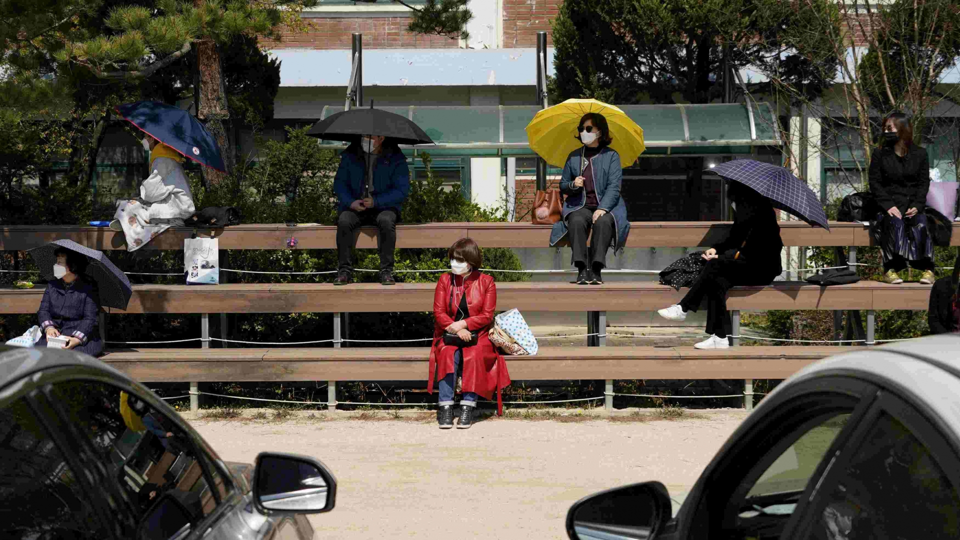
[[[625,485],[577,501],[566,513],[570,540],[652,540],[673,516],[660,482]]]

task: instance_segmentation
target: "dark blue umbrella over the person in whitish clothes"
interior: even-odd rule
[[[186,110],[156,101],[138,101],[117,107],[117,113],[183,157],[225,172],[217,139]]]

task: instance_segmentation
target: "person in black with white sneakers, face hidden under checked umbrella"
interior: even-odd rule
[[[660,316],[683,321],[686,313],[696,312],[707,299],[707,333],[710,336],[694,345],[697,349],[730,347],[730,313],[727,293],[735,285],[768,285],[783,271],[780,265],[780,225],[770,200],[750,187],[725,181],[732,200],[733,227],[726,240],[704,252],[707,259],[700,276],[680,304],[660,309]]]

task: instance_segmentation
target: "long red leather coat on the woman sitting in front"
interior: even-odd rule
[[[452,300],[451,284],[455,284]],[[466,280],[446,273],[437,282],[433,295],[434,339],[430,349],[430,371],[427,374],[426,389],[433,393],[434,379],[441,380],[454,371],[453,355],[457,352],[457,347],[444,345],[444,331],[454,323],[457,306],[460,305],[463,294],[461,290],[466,291],[467,295],[470,315],[466,319],[467,330],[479,331],[477,344],[464,348],[462,389],[464,392],[476,392],[488,400],[492,399],[493,392],[496,391],[496,411],[502,415],[500,390],[510,385],[510,374],[507,373],[507,362],[503,355],[497,352],[487,337],[487,331],[493,324],[493,310],[496,308],[496,284],[491,276],[480,271],[474,270]]]

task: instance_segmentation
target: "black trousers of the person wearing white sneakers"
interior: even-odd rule
[[[690,285],[680,307],[696,311],[707,300],[707,333],[727,337],[731,331],[727,311],[727,293],[736,285],[769,285],[780,274],[780,263],[751,264],[744,259],[714,258],[707,262],[700,276]]]

